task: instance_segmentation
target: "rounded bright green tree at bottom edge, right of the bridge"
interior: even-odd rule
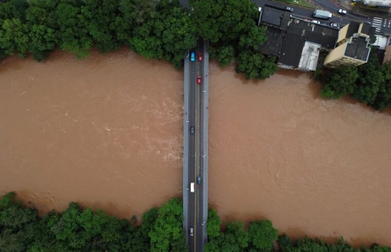
[[[253,221],[250,223],[249,237],[251,244],[262,251],[272,251],[273,243],[278,238],[278,230],[269,220]]]

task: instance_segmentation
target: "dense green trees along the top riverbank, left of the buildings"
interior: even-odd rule
[[[57,47],[85,58],[96,46],[106,53],[127,46],[146,58],[181,68],[197,38],[209,39],[222,66],[237,58],[237,72],[267,78],[275,59],[255,49],[266,40],[250,0],[10,0],[0,3],[0,58],[31,53],[40,61]]]

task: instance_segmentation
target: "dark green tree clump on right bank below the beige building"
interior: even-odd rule
[[[391,107],[391,62],[381,65],[375,48],[368,62],[358,67],[341,67],[315,78],[322,80],[321,94],[324,98],[340,98],[350,95],[376,110]]]

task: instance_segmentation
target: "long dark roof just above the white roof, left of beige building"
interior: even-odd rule
[[[297,18],[290,19],[287,32],[301,36],[307,41],[320,44],[329,49],[334,48],[338,38],[338,30],[334,28],[306,22]]]

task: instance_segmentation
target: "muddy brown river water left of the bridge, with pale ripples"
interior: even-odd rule
[[[183,74],[135,53],[0,66],[1,193],[140,216],[182,195]]]

